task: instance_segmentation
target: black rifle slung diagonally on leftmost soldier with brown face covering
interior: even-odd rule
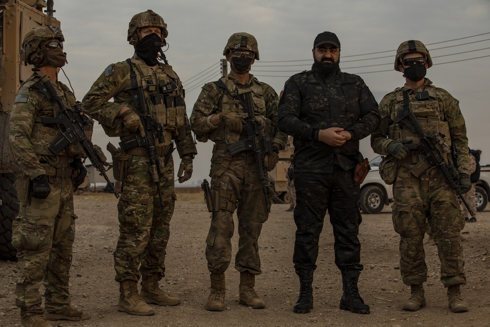
[[[48,92],[51,97],[51,101],[54,101],[58,104],[60,108],[60,112],[58,117],[50,118],[50,117],[42,117],[41,121],[45,125],[57,125],[61,130],[61,135],[49,146],[49,151],[53,154],[57,155],[60,151],[65,149],[68,145],[72,144],[75,141],[78,141],[82,146],[83,150],[87,154],[90,162],[94,165],[97,171],[100,173],[100,176],[103,176],[107,181],[107,184],[110,185],[112,192],[119,198],[119,193],[105,174],[109,169],[112,168],[111,165],[107,164],[105,156],[103,155],[102,150],[94,146],[92,141],[87,138],[85,135],[85,126],[92,125],[92,122],[88,118],[87,114],[83,111],[79,102],[77,102],[73,109],[68,108],[63,101],[61,100],[60,95],[54,89],[53,84],[49,79],[48,75],[45,75],[40,80],[41,84],[44,86],[44,90]],[[107,169],[105,168],[107,165]]]

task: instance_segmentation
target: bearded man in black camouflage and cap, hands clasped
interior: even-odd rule
[[[293,75],[279,102],[279,129],[294,137],[296,240],[293,262],[299,276],[294,312],[313,308],[313,272],[328,209],[335,239],[335,264],[342,272],[340,308],[369,313],[357,282],[363,265],[358,239],[362,221],[354,168],[364,161],[359,140],[379,124],[377,103],[361,77],[339,68],[340,41],[320,33],[313,43],[311,71]]]

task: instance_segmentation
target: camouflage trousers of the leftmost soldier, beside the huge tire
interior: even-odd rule
[[[58,178],[50,187],[47,199],[31,197],[21,202],[12,224],[12,245],[19,259],[15,304],[22,317],[44,313],[39,293],[43,281],[46,310],[59,312],[71,303],[68,284],[76,219],[73,184],[70,178]]]

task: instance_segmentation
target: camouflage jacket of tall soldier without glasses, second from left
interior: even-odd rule
[[[136,54],[131,58],[131,63],[137,75],[138,86],[143,86],[145,90],[147,110],[157,123],[165,127],[164,143],[158,143],[157,139],[155,140],[156,147],[168,146],[174,140],[180,156],[186,153],[197,153],[186,113],[182,83],[172,66],[158,63],[155,72]],[[141,114],[128,92],[131,89],[129,75],[130,68],[126,61],[111,64],[83,98],[87,113],[102,125],[108,136],[126,138],[137,133],[128,131],[123,125],[123,119],[116,117],[123,106]],[[152,99],[162,94],[160,86],[171,85],[169,83],[174,86],[173,91],[165,94],[163,104],[155,104]],[[147,86],[151,84],[156,85],[156,91],[147,90]],[[111,98],[114,98],[114,102],[109,101]]]

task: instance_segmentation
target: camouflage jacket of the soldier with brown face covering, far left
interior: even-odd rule
[[[10,141],[16,161],[21,170],[30,178],[46,174],[43,164],[56,165],[58,157],[68,157],[65,163],[73,158],[85,157],[81,145],[73,142],[58,155],[49,151],[48,147],[60,136],[57,126],[44,126],[41,117],[57,117],[59,107],[49,100],[48,93],[43,91],[38,81],[44,75],[38,72],[32,74],[19,88],[10,116]],[[51,82],[52,83],[52,82]],[[53,83],[55,90],[67,107],[73,107],[75,96],[68,87],[61,83]],[[86,127],[87,137],[91,137],[91,129]]]

